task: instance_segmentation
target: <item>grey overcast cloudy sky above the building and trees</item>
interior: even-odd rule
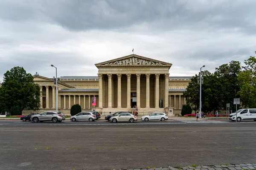
[[[256,51],[255,0],[0,0],[0,81],[22,66],[44,77],[97,76],[134,54],[193,76]]]

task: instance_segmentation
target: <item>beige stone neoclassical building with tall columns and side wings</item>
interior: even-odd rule
[[[58,111],[70,114],[71,106],[79,104],[83,111],[109,114],[137,106],[139,113],[169,111],[177,116],[186,103],[183,91],[191,77],[169,77],[168,62],[132,54],[95,65],[98,77],[58,78]],[[55,79],[33,77],[42,91],[39,112],[55,111]]]

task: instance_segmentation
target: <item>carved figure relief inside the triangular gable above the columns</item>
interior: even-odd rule
[[[153,62],[145,59],[139,59],[137,57],[132,57],[128,59],[122,59],[116,62],[110,62],[105,65],[163,65],[163,64],[160,62]]]

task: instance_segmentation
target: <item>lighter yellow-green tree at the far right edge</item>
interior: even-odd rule
[[[255,51],[256,53],[256,51]],[[247,108],[256,108],[256,58],[250,56],[244,60],[246,65],[238,76],[241,89],[238,91],[242,105]]]

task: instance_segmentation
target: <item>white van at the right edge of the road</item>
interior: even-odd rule
[[[246,119],[253,119],[254,121],[256,121],[256,109],[239,109],[237,112],[231,113],[228,119],[233,122],[236,121],[236,119],[237,122]]]

